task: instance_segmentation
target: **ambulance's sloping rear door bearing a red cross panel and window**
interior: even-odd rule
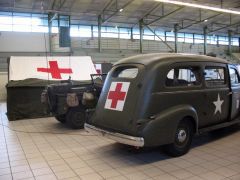
[[[144,66],[120,65],[105,81],[93,124],[126,134],[134,132],[134,115],[142,86]]]

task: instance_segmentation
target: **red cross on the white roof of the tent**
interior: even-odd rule
[[[72,74],[72,69],[59,68],[57,61],[49,61],[49,68],[37,68],[38,72],[50,73],[53,79],[62,79],[61,74]]]

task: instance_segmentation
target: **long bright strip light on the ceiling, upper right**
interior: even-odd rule
[[[230,9],[222,9],[222,8],[200,5],[200,4],[194,4],[194,3],[172,1],[172,0],[155,0],[155,1],[163,2],[163,3],[169,3],[169,4],[175,4],[175,5],[180,5],[180,6],[188,6],[188,7],[200,8],[200,9],[207,9],[207,10],[217,11],[217,12],[222,12],[222,13],[230,13],[230,14],[240,15],[240,11],[234,11],[234,10],[230,10]]]

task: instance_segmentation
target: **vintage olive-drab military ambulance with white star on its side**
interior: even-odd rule
[[[119,61],[85,129],[180,156],[195,134],[240,123],[235,65],[201,55],[146,54]]]

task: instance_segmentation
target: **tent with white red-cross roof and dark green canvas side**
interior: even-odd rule
[[[7,88],[9,120],[44,117],[40,102],[48,84],[60,83],[69,77],[75,83],[89,81],[96,69],[89,56],[75,57],[11,57]]]

